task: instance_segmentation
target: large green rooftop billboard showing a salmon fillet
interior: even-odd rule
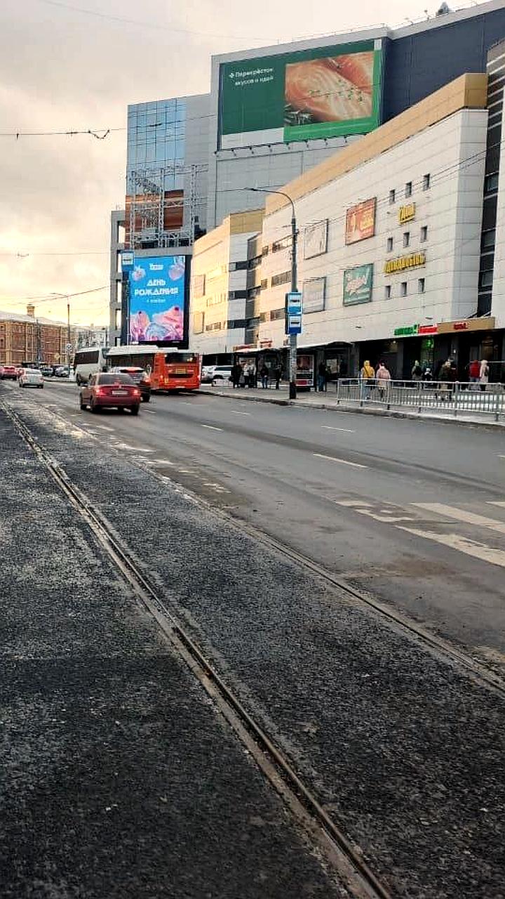
[[[220,147],[367,134],[380,123],[380,40],[220,67]]]

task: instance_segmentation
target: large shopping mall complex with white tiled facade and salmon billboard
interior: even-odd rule
[[[212,58],[210,93],[195,98],[190,115],[184,98],[185,133],[196,129],[197,143],[175,139],[182,112],[163,119],[153,103],[135,115],[130,107],[125,245],[137,240],[143,250],[170,252],[178,244],[178,203],[182,245],[207,231],[190,246],[187,320],[190,346],[208,360],[229,360],[238,347],[281,352],[285,343],[291,210],[269,190],[295,202],[304,293],[299,343],[315,365],[324,357],[351,373],[365,356],[384,356],[401,376],[414,357],[436,364],[438,356],[456,355],[463,367],[474,353],[505,358],[505,2],[454,13],[444,6],[402,29]],[[161,165],[164,178],[168,171],[186,181],[160,187]],[[153,197],[157,218],[146,215]],[[250,210],[258,211],[243,221],[238,239],[235,214]],[[254,218],[262,220],[256,234],[247,230]],[[136,235],[141,227],[145,233]],[[123,278],[111,272],[114,315],[120,309],[124,321],[128,309],[117,295]]]

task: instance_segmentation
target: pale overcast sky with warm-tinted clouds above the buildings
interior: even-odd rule
[[[128,102],[207,93],[212,53],[406,24],[428,3],[0,0],[0,132],[124,129]],[[72,321],[108,322],[109,218],[124,203],[125,166],[126,130],[0,137],[0,309],[105,286],[71,299]],[[34,302],[40,315],[66,317],[66,300]]]

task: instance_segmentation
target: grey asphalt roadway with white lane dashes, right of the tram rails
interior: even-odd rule
[[[501,432],[203,394],[93,416],[57,382],[22,396],[505,666]]]

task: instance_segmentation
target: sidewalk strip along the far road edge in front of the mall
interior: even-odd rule
[[[349,403],[345,401],[337,402],[336,393],[331,390],[324,393],[316,393],[315,390],[305,391],[299,390],[296,400],[289,399],[288,385],[281,385],[279,390],[275,387],[212,387],[211,385],[202,385],[199,388],[201,395],[207,396],[225,396],[227,399],[254,400],[257,403],[272,403],[274,405],[297,405],[306,409],[325,409],[332,412],[355,412],[356,414],[365,415],[383,415],[390,418],[408,418],[414,420],[424,420],[430,422],[452,422],[456,424],[480,424],[494,428],[505,428],[505,419],[495,422],[493,414],[486,413],[467,413],[458,410],[457,417],[451,412],[450,406],[446,410],[422,410],[409,411],[407,409],[383,409],[375,403],[369,403],[367,400],[360,406],[358,403]]]

